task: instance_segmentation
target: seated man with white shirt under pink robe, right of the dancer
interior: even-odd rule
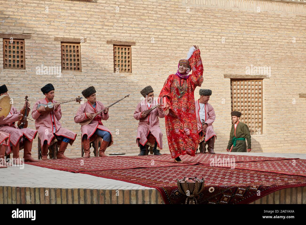
[[[215,154],[215,138],[217,136],[212,123],[215,121],[216,114],[214,108],[208,103],[209,97],[211,96],[211,90],[200,89],[199,93],[200,99],[196,100],[195,104],[200,153],[206,152],[206,144],[208,144],[208,152],[210,154]]]

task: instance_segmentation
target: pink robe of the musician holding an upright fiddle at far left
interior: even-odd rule
[[[30,111],[30,109],[28,109]],[[19,129],[17,127],[18,114],[15,107],[12,106],[10,114],[7,115],[2,121],[0,121],[0,131],[4,133],[9,133],[9,141],[16,147],[19,139],[24,135],[28,140],[33,141],[36,137],[37,131],[30,128]],[[16,122],[16,123],[15,123]],[[23,144],[20,144],[20,149],[22,149]]]

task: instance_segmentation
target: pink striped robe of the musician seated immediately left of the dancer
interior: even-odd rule
[[[146,99],[138,103],[134,112],[134,118],[139,120],[136,141],[139,138],[140,144],[145,145],[148,141],[147,136],[151,132],[151,134],[155,137],[159,148],[162,149],[162,131],[159,128],[159,118],[165,118],[164,111],[162,109],[155,108],[145,118],[142,118],[140,115],[142,112],[154,107],[155,105],[157,105],[156,100],[151,103],[150,107],[148,106]],[[139,146],[138,142],[137,144]]]

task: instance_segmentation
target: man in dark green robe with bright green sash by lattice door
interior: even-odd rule
[[[227,145],[227,152],[251,152],[251,135],[248,125],[240,122],[241,112],[231,112],[233,125],[230,130],[230,141]],[[245,143],[245,139],[248,141],[248,148]]]

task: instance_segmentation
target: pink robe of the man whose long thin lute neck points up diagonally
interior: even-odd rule
[[[99,102],[96,101],[96,107],[92,107],[91,104],[89,104],[88,102],[82,104],[79,109],[76,112],[76,116],[74,117],[74,122],[76,123],[80,123],[82,121],[84,121],[85,119],[87,119],[88,117],[86,116],[86,114],[89,113],[97,113],[101,110],[103,110],[105,107],[104,105]],[[107,120],[109,118],[109,114],[104,114],[104,112],[99,114],[102,117],[102,120]],[[103,124],[99,124],[98,121],[91,121],[89,124],[81,126],[81,132],[82,132],[82,140],[83,140],[83,135],[87,134],[87,138],[89,139],[96,131],[96,129],[100,129],[100,130],[105,130],[110,132],[110,130],[108,128],[106,128],[105,126],[103,126]],[[113,135],[110,132],[110,136],[112,137],[112,140],[110,141],[110,143],[108,144],[108,147],[110,145],[112,145],[113,142]]]

